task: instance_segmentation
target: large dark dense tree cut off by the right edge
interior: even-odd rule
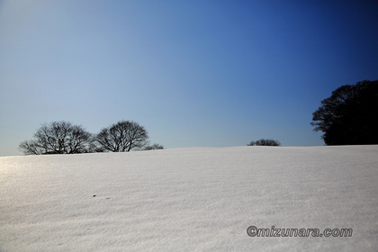
[[[311,125],[327,145],[378,143],[378,80],[342,85],[321,101]]]

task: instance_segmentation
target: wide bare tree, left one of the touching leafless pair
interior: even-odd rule
[[[23,141],[19,148],[25,155],[74,154],[94,152],[94,137],[82,126],[67,121],[43,124],[34,139]]]

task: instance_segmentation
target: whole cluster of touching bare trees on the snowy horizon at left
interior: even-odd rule
[[[124,152],[164,147],[159,144],[148,145],[148,131],[135,121],[119,121],[97,134],[67,121],[53,121],[43,124],[34,138],[23,141],[19,148],[25,155],[41,155]]]

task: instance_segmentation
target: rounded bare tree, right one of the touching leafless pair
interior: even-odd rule
[[[101,130],[96,140],[105,150],[125,152],[145,147],[148,144],[148,132],[137,122],[119,121]]]

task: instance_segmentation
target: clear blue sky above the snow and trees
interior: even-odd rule
[[[374,0],[0,0],[0,156],[50,121],[137,121],[166,148],[323,145],[320,101],[378,79],[377,13]]]

